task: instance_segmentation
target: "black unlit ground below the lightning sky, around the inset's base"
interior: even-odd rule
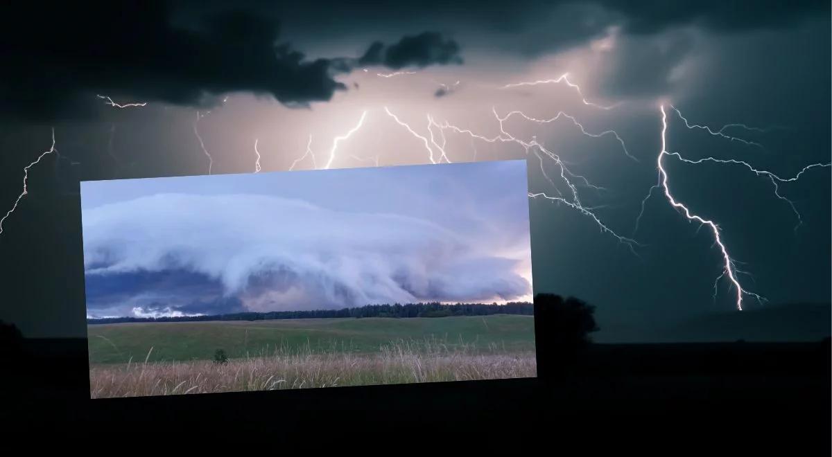
[[[27,348],[22,363],[2,366],[0,416],[38,433],[351,437],[359,447],[498,440],[517,451],[522,439],[552,449],[571,442],[589,454],[661,444],[671,455],[697,446],[709,455],[830,455],[829,340],[594,345],[571,373],[549,379],[102,400],[89,399],[86,340]],[[538,354],[538,370],[546,363]]]

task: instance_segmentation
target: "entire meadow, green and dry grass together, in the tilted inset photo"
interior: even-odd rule
[[[533,327],[513,315],[90,325],[91,396],[531,377]]]

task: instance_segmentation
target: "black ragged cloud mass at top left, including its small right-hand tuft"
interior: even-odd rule
[[[90,114],[96,94],[210,106],[233,91],[268,94],[290,106],[329,101],[346,86],[354,57],[307,60],[281,43],[276,17],[256,10],[194,11],[171,20],[164,2],[28,3],[0,19],[0,114],[48,119]],[[367,64],[401,68],[459,61],[436,33],[405,37]],[[86,112],[85,112],[86,111]]]

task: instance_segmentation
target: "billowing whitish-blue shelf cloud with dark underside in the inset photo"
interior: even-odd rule
[[[484,209],[470,195],[447,198],[460,209]],[[83,213],[88,314],[265,312],[531,293],[517,271],[524,259],[498,255],[502,242],[485,227],[470,233],[471,225],[448,224],[442,210],[401,213],[247,193],[159,193],[102,204]]]

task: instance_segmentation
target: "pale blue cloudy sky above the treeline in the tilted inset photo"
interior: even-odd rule
[[[529,300],[524,160],[82,183],[87,315]]]

